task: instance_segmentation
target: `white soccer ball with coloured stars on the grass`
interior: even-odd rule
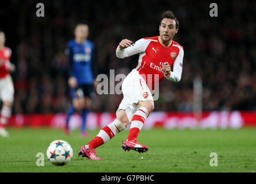
[[[46,155],[50,163],[56,166],[64,166],[71,161],[73,150],[68,142],[54,140],[47,148]]]

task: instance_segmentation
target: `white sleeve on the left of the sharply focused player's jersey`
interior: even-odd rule
[[[148,44],[145,44],[144,39],[140,39],[127,48],[121,49],[117,46],[116,56],[118,58],[123,59],[125,57],[129,57],[129,56],[135,55],[137,53],[144,52],[144,51],[146,51],[147,45]]]

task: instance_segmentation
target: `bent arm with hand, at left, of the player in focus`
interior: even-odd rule
[[[140,39],[132,44],[131,40],[124,39],[120,41],[116,49],[116,56],[123,59],[124,57],[132,56],[145,51],[144,39]]]

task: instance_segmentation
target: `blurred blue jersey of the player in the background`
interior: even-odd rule
[[[93,84],[94,44],[88,40],[83,44],[70,40],[65,52],[69,60],[69,76],[74,76],[79,85]]]

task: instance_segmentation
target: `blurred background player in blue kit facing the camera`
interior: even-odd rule
[[[66,114],[64,132],[70,134],[69,120],[73,113],[80,112],[82,118],[81,136],[88,137],[86,118],[91,106],[94,85],[97,85],[97,63],[94,44],[87,40],[89,28],[86,24],[77,24],[75,39],[68,41],[65,54],[68,57],[68,85],[70,87],[72,104]]]

